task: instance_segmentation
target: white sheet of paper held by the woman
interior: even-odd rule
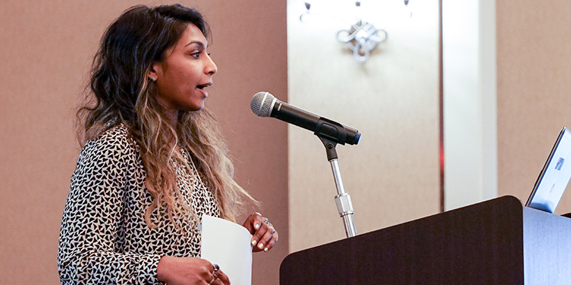
[[[201,232],[201,258],[218,264],[232,285],[251,285],[250,232],[242,225],[210,215],[203,215]]]

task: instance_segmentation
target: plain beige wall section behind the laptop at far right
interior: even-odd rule
[[[497,1],[498,191],[526,201],[571,126],[571,2]],[[571,212],[571,190],[556,213]]]

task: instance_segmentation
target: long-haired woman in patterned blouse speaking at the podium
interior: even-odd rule
[[[213,115],[208,26],[179,4],[135,6],[104,33],[79,109],[83,149],[58,249],[63,284],[230,284],[200,259],[203,215],[236,222],[245,199]],[[278,233],[259,213],[254,251]]]

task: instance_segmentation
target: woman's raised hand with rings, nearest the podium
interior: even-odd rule
[[[271,250],[278,242],[278,232],[267,218],[256,212],[248,216],[242,224],[252,234],[253,252]]]

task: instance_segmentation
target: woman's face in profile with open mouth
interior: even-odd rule
[[[188,24],[164,60],[153,63],[149,77],[157,79],[157,101],[166,111],[198,111],[208,97],[217,67],[206,51],[208,41],[200,29]]]

